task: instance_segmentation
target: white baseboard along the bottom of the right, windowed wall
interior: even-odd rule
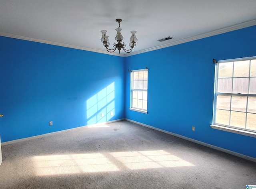
[[[194,143],[196,143],[196,144],[200,144],[200,145],[202,145],[202,146],[206,146],[206,147],[209,147],[209,148],[212,148],[212,149],[215,149],[215,150],[219,150],[219,151],[221,151],[221,152],[225,152],[225,153],[227,153],[227,154],[231,154],[231,155],[237,156],[237,157],[239,157],[239,158],[243,158],[243,159],[247,159],[247,160],[256,162],[256,158],[252,158],[252,157],[246,156],[246,155],[244,155],[244,154],[239,154],[239,153],[237,153],[237,152],[233,152],[233,151],[227,150],[227,149],[225,149],[225,148],[220,148],[220,147],[218,147],[218,146],[214,146],[214,145],[211,145],[211,144],[207,144],[207,143],[201,142],[201,141],[199,141],[199,140],[194,140],[194,139],[192,139],[192,138],[188,138],[188,137],[182,136],[182,135],[180,135],[180,134],[175,134],[175,133],[172,133],[172,132],[169,132],[169,131],[166,131],[166,130],[162,130],[162,129],[159,129],[159,128],[156,128],[156,127],[153,127],[153,126],[150,126],[150,125],[146,125],[146,124],[143,124],[143,123],[140,123],[140,122],[136,122],[136,121],[134,121],[134,120],[130,120],[130,119],[127,119],[127,118],[125,118],[125,120],[127,120],[127,121],[129,121],[129,122],[132,122],[132,123],[136,123],[136,124],[138,124],[138,125],[142,125],[142,126],[145,126],[145,127],[151,128],[151,129],[154,129],[154,130],[158,130],[158,131],[160,131],[160,132],[164,132],[164,133],[166,133],[166,134],[170,134],[170,135],[172,135],[172,136],[176,136],[176,137],[178,137],[178,138],[182,138],[182,139],[184,139],[184,140],[188,140],[188,141],[190,141],[190,142],[194,142]]]

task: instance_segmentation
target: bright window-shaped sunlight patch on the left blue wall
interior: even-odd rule
[[[111,83],[86,101],[87,124],[107,122],[115,115],[115,83]],[[103,116],[102,116],[103,115]]]

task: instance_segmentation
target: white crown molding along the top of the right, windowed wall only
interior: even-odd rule
[[[146,53],[146,52],[154,51],[154,50],[157,50],[157,49],[163,49],[163,48],[166,48],[166,47],[171,47],[171,46],[174,46],[174,45],[179,45],[179,44],[182,44],[182,43],[187,43],[187,42],[190,42],[190,41],[195,41],[195,40],[198,40],[198,39],[203,39],[203,38],[206,38],[206,37],[211,37],[211,36],[222,34],[222,33],[232,32],[234,30],[239,30],[239,29],[242,29],[242,28],[247,28],[247,27],[255,26],[255,25],[256,25],[256,20],[251,20],[251,21],[244,22],[244,23],[241,23],[241,24],[236,24],[234,26],[229,26],[227,28],[222,28],[222,29],[219,29],[219,30],[214,30],[212,32],[202,33],[200,35],[195,35],[195,36],[192,36],[192,37],[188,37],[186,39],[180,39],[178,41],[174,41],[174,42],[171,42],[171,43],[166,43],[164,45],[159,45],[159,46],[144,49],[144,50],[141,50],[141,51],[135,51],[135,52],[124,55],[124,57],[129,57],[129,56],[132,56],[132,55]]]

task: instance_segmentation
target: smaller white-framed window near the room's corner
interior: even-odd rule
[[[148,69],[131,71],[130,110],[148,113]]]

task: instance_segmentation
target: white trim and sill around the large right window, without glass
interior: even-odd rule
[[[245,135],[245,136],[250,136],[250,137],[256,138],[256,132],[252,132],[252,131],[249,131],[249,130],[243,130],[243,129],[239,129],[239,128],[232,128],[230,126],[222,126],[222,125],[214,124],[215,123],[215,118],[216,118],[216,97],[217,97],[216,89],[217,89],[217,80],[218,80],[218,73],[217,73],[217,71],[218,71],[218,63],[229,62],[229,61],[245,61],[245,60],[251,60],[251,59],[255,59],[255,58],[256,58],[256,56],[216,61],[217,64],[215,65],[214,105],[213,105],[213,117],[212,117],[212,123],[213,124],[210,125],[213,129],[222,130],[222,131],[226,131],[226,132],[232,132],[232,133],[241,134],[241,135]]]

